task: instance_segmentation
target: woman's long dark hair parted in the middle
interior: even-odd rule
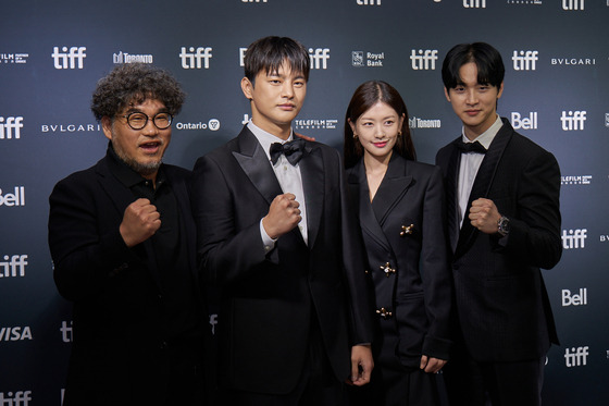
[[[349,125],[356,123],[358,119],[365,113],[371,107],[382,101],[394,109],[398,116],[403,115],[400,133],[394,146],[394,151],[406,159],[417,160],[417,152],[410,136],[410,127],[408,125],[408,110],[398,93],[391,85],[382,81],[369,81],[362,83],[351,97],[347,113],[345,114],[345,168],[355,165],[363,156],[363,147],[359,139],[353,138],[353,131]],[[398,133],[399,134],[399,133]]]

